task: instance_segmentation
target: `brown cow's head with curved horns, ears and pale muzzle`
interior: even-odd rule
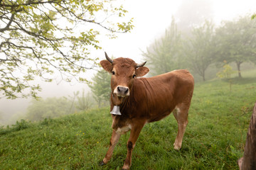
[[[100,64],[103,69],[112,74],[111,89],[117,100],[114,104],[119,105],[122,98],[129,96],[134,79],[144,76],[149,69],[144,67],[146,62],[137,64],[132,59],[122,57],[112,60],[106,52],[105,57],[107,60],[102,60]]]

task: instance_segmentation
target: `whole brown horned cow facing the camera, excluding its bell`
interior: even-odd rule
[[[107,60],[102,60],[100,64],[107,72],[112,73],[110,111],[114,106],[119,106],[121,115],[112,114],[110,147],[101,164],[110,161],[119,137],[131,130],[127,142],[127,157],[122,167],[129,169],[132,165],[132,150],[144,125],[161,120],[171,112],[178,123],[174,149],[181,149],[193,96],[193,76],[187,70],[181,69],[156,77],[137,78],[149,72],[144,67],[146,62],[136,64],[133,60],[122,57],[111,60],[107,53],[105,57]]]

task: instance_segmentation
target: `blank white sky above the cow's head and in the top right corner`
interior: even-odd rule
[[[205,0],[210,1],[210,0]],[[124,8],[134,18],[134,29],[131,33],[118,35],[114,40],[103,39],[102,51],[109,56],[129,57],[135,62],[143,62],[142,51],[146,51],[155,38],[161,37],[164,30],[171,25],[182,1],[174,0],[127,0]],[[210,1],[213,8],[213,21],[219,25],[223,20],[232,20],[244,13],[256,12],[256,1],[252,0],[214,0]],[[186,12],[186,11],[184,11]],[[104,58],[104,52],[97,53]]]

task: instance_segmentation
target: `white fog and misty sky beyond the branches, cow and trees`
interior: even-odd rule
[[[127,18],[134,18],[134,29],[131,33],[117,34],[116,39],[108,39],[101,35],[99,40],[102,50],[92,50],[92,58],[99,57],[102,60],[105,57],[104,52],[107,52],[109,56],[130,57],[135,62],[142,62],[142,51],[145,51],[146,47],[149,47],[156,38],[161,37],[165,29],[170,26],[172,16],[177,18],[179,28],[186,29],[183,27],[184,21],[191,21],[190,24],[193,25],[206,18],[212,18],[218,26],[221,21],[232,20],[245,13],[256,13],[256,1],[250,0],[129,0],[124,1],[123,6],[129,11]],[[85,74],[90,80],[95,73],[95,70],[88,70]],[[68,96],[82,89],[90,91],[87,84],[80,84],[76,81],[67,83],[59,78],[51,83],[38,80],[36,84],[41,85],[42,91],[38,94],[42,98]],[[14,120],[23,118],[30,101],[31,98],[16,100],[1,98],[0,112],[3,115],[0,118],[0,125],[13,123]]]

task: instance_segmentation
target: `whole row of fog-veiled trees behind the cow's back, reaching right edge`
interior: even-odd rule
[[[242,63],[256,64],[256,21],[250,16],[223,21],[218,28],[206,20],[187,32],[179,31],[173,18],[164,36],[143,52],[151,76],[186,68],[205,81],[210,64],[221,67],[235,62],[238,77],[242,77]]]

